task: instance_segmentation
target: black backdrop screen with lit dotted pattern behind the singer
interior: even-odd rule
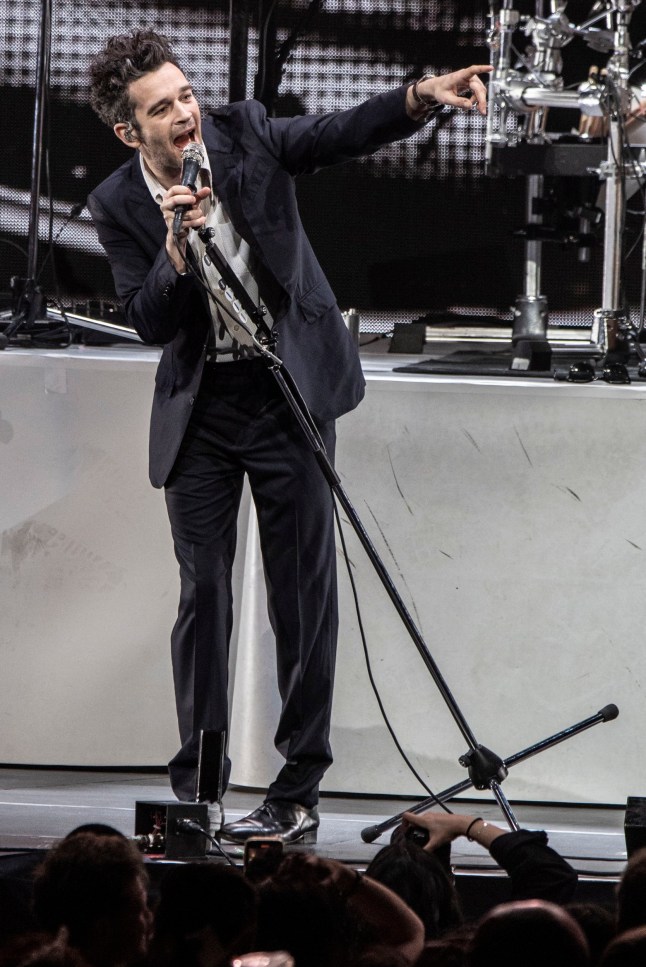
[[[279,39],[309,6],[281,0]],[[533,9],[520,2],[518,7]],[[590,4],[568,6],[584,19]],[[58,237],[41,283],[67,306],[114,300],[112,280],[87,211],[71,208],[125,160],[127,150],[87,102],[91,54],[113,33],[152,27],[166,33],[204,108],[226,100],[228,0],[182,5],[54,0],[51,83],[46,111],[40,259]],[[571,8],[571,10],[570,10]],[[447,0],[326,0],[294,49],[277,113],[350,107],[424,70],[487,63],[485,4]],[[0,291],[24,275],[40,3],[0,0]],[[249,43],[249,83],[257,64],[257,25]],[[587,76],[576,49],[571,68]],[[597,55],[598,57],[598,55]],[[587,58],[587,61],[586,61]],[[577,123],[578,119],[574,119]],[[377,155],[300,179],[306,227],[342,308],[356,306],[387,328],[420,313],[504,318],[522,290],[522,179],[484,174],[484,119],[448,112],[419,135]],[[9,244],[8,244],[9,243]],[[552,321],[589,324],[600,300],[600,253],[588,266],[576,253],[546,247]],[[52,269],[55,267],[55,272]]]

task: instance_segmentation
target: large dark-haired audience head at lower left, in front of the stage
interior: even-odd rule
[[[37,871],[34,912],[51,933],[65,927],[70,946],[93,967],[129,964],[148,946],[147,886],[141,855],[123,836],[79,832]]]

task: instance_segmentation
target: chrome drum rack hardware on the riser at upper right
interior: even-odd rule
[[[516,148],[546,146],[549,150],[558,145],[558,136],[547,130],[550,108],[579,112],[581,141],[589,141],[595,126],[603,134],[603,160],[597,166],[574,173],[599,179],[605,194],[601,306],[591,321],[591,351],[601,353],[606,361],[622,363],[631,341],[639,351],[622,302],[621,265],[626,181],[641,182],[646,173],[644,163],[627,157],[624,146],[625,126],[635,117],[634,106],[639,97],[630,86],[632,48],[628,30],[632,13],[640,2],[598,0],[592,5],[588,20],[579,26],[569,22],[567,2],[563,0],[536,0],[532,16],[514,9],[514,0],[492,2],[489,10],[488,46],[494,70],[487,111],[488,173],[500,174],[508,165],[504,156],[513,155]],[[514,37],[519,31],[530,40],[524,53],[519,53],[514,46]],[[591,71],[576,89],[566,90],[562,77],[563,51],[575,37],[609,57],[603,71]],[[514,55],[517,61],[512,64]],[[638,56],[641,56],[639,51]],[[523,292],[513,309],[513,345],[527,340],[543,342],[546,337],[549,313],[547,298],[541,291],[544,191],[544,174],[531,170],[526,186]],[[581,230],[585,234],[589,229],[590,222],[582,213]],[[586,257],[589,255],[582,260]]]

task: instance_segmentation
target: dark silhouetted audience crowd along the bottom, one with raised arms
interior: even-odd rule
[[[460,836],[508,876],[509,901],[475,922],[450,866]],[[406,813],[365,872],[299,848],[247,870],[214,856],[149,869],[159,865],[116,830],[74,830],[35,868],[28,910],[0,893],[0,967],[646,963],[646,850],[629,859],[613,909],[577,903],[577,875],[545,833],[477,816]]]

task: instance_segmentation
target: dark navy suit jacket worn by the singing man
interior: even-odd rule
[[[276,352],[312,415],[332,420],[361,400],[359,357],[312,251],[296,204],[294,177],[375,151],[419,131],[405,110],[406,88],[333,114],[268,118],[257,101],[207,115],[202,136],[214,190],[236,231],[282,293]],[[129,325],[162,344],[150,428],[150,479],[162,487],[197,395],[210,317],[202,290],[181,276],[166,250],[166,223],[144,181],[138,152],[90,195]]]

